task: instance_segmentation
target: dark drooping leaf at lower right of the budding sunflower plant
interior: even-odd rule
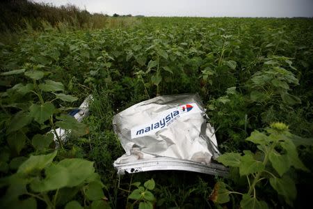
[[[282,176],[282,178],[270,178],[271,186],[278,192],[278,194],[284,196],[285,201],[292,206],[292,202],[296,199],[297,189],[294,180],[289,176]]]

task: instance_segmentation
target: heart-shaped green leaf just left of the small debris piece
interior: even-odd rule
[[[29,107],[29,116],[33,117],[35,121],[41,124],[54,114],[55,109],[54,104],[51,102],[45,102],[45,104],[32,104],[31,107]]]

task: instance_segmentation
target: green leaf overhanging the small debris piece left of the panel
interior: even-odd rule
[[[71,130],[71,133],[77,137],[83,136],[88,133],[88,127],[86,124],[79,123],[73,116],[61,115],[56,117],[58,121],[56,125],[64,130]]]

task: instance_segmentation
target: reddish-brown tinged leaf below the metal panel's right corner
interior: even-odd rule
[[[227,203],[230,201],[230,191],[226,189],[225,183],[218,181],[214,185],[213,192],[211,193],[209,199],[214,201],[214,203]]]

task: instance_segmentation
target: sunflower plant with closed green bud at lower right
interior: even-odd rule
[[[218,157],[218,162],[226,166],[238,167],[240,176],[248,180],[248,192],[241,194],[241,208],[268,208],[265,201],[257,199],[256,188],[262,180],[269,180],[271,187],[284,197],[284,201],[293,206],[296,199],[296,185],[291,175],[291,167],[309,172],[298,157],[296,146],[292,141],[288,126],[284,123],[273,123],[266,132],[252,132],[246,140],[257,144],[261,153],[243,150],[239,153],[225,153]],[[232,192],[225,189],[224,183],[216,183],[211,200],[215,203],[230,201]]]

